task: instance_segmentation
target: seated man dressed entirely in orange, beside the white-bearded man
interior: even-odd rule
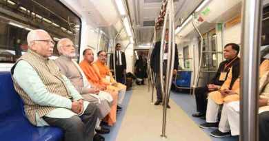
[[[94,61],[94,54],[91,49],[86,49],[83,51],[83,61],[79,63],[82,71],[84,72],[88,81],[98,87],[98,89],[102,91],[106,91],[111,94],[114,101],[118,99],[118,91],[114,91],[107,87],[105,83],[101,80],[101,76],[97,73],[98,71],[92,66],[92,62]],[[116,111],[117,104],[114,104],[111,107],[110,113],[108,113],[108,125],[112,126],[116,122]]]

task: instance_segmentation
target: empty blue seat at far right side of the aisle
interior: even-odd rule
[[[179,78],[176,81],[176,85],[178,87],[190,87],[191,76],[192,72],[181,72],[179,74]]]

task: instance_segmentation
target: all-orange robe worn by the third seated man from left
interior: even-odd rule
[[[86,78],[92,85],[96,85],[99,89],[101,89],[103,86],[107,87],[107,85],[101,80],[101,76],[99,75],[99,73],[97,73],[97,70],[92,67],[92,64],[88,63],[85,59],[83,59],[83,61],[79,63],[79,66],[81,67]],[[105,91],[111,94],[114,101],[118,100],[118,91],[114,91],[113,89],[110,89],[108,87]],[[108,113],[108,125],[112,126],[116,122],[116,112],[117,104],[115,103],[111,107],[110,113]]]

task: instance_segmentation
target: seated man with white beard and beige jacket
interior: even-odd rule
[[[74,44],[70,39],[61,39],[57,44],[57,49],[61,56],[55,60],[55,63],[57,67],[59,67],[61,73],[70,79],[72,85],[79,91],[84,100],[93,102],[97,105],[98,119],[95,131],[97,131],[97,133],[109,133],[109,129],[100,127],[99,124],[101,119],[110,112],[110,104],[112,105],[114,102],[111,101],[112,97],[110,94],[106,94],[106,96],[110,96],[111,99],[110,102],[108,102],[108,100],[105,100],[100,96],[106,92],[99,91],[97,87],[90,85],[86,78],[83,78],[85,75],[79,65],[75,61],[72,61],[72,58],[76,54],[74,52]],[[94,135],[94,137],[96,137],[95,140],[104,140],[104,138],[98,134]]]

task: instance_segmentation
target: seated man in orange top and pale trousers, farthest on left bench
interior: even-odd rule
[[[121,105],[123,101],[126,92],[126,85],[117,83],[117,81],[114,80],[112,74],[109,72],[108,66],[106,66],[106,52],[102,50],[98,52],[97,56],[98,60],[95,61],[92,65],[96,70],[98,70],[97,73],[99,76],[101,76],[102,82],[106,84],[108,88],[119,91],[117,111],[121,111],[122,108],[119,107],[119,105]]]

